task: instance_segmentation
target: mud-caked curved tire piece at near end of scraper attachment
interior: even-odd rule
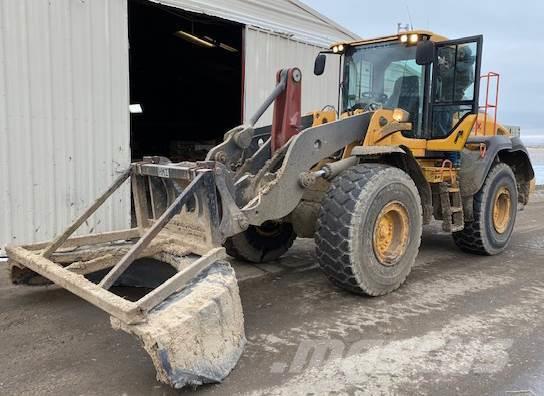
[[[246,343],[238,284],[234,270],[223,261],[151,310],[146,319],[130,325],[111,317],[111,323],[138,337],[155,365],[157,380],[178,389],[221,382]]]

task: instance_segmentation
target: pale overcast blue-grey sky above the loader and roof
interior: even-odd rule
[[[501,75],[499,120],[544,131],[544,1],[304,1],[362,37],[396,33],[410,19],[451,39],[483,34],[482,72]]]

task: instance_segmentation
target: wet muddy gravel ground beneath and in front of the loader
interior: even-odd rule
[[[223,384],[182,393],[544,394],[543,263],[541,195],[500,256],[461,253],[427,227],[407,283],[385,297],[329,284],[310,240],[269,266],[235,263],[246,350]],[[0,305],[0,394],[179,394],[103,312],[12,286],[2,263]]]

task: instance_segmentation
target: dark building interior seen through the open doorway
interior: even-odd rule
[[[129,0],[132,159],[201,160],[242,122],[243,25]],[[134,108],[134,106],[132,106]]]

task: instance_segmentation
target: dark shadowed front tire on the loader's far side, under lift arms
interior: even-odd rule
[[[249,228],[225,241],[227,254],[252,263],[280,258],[293,245],[297,235],[290,223],[267,221]]]

